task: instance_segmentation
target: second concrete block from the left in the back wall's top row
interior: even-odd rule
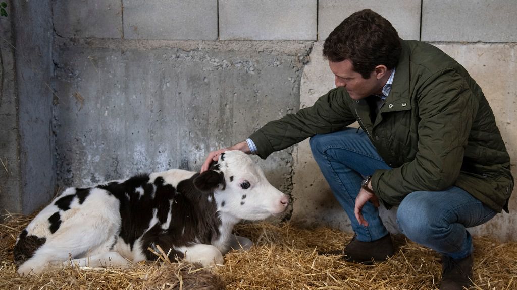
[[[123,0],[124,38],[216,40],[217,0]]]

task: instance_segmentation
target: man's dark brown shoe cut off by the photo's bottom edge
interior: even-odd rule
[[[463,287],[472,286],[470,277],[472,277],[473,264],[474,257],[472,254],[458,260],[445,255],[442,256],[440,290],[463,290]]]

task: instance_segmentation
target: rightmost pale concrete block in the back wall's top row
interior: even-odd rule
[[[423,0],[422,40],[517,42],[515,0]]]

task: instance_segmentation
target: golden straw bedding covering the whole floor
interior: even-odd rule
[[[201,268],[185,262],[140,263],[129,269],[56,268],[41,277],[19,277],[12,263],[18,233],[33,216],[8,215],[0,222],[0,289],[437,289],[439,256],[403,236],[397,254],[373,266],[342,262],[318,251],[340,249],[352,235],[328,228],[303,229],[291,223],[246,223],[248,252],[232,251],[224,266]],[[517,289],[517,243],[475,237],[471,289]]]

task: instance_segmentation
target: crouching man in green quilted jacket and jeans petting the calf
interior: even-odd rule
[[[436,47],[401,40],[369,9],[353,13],[325,40],[335,89],[312,107],[272,121],[228,149],[266,158],[311,137],[311,149],[356,234],[343,259],[393,254],[379,203],[399,206],[409,239],[443,255],[440,289],[470,285],[466,230],[508,212],[510,158],[488,102],[467,71]],[[358,121],[362,130],[346,126]]]

